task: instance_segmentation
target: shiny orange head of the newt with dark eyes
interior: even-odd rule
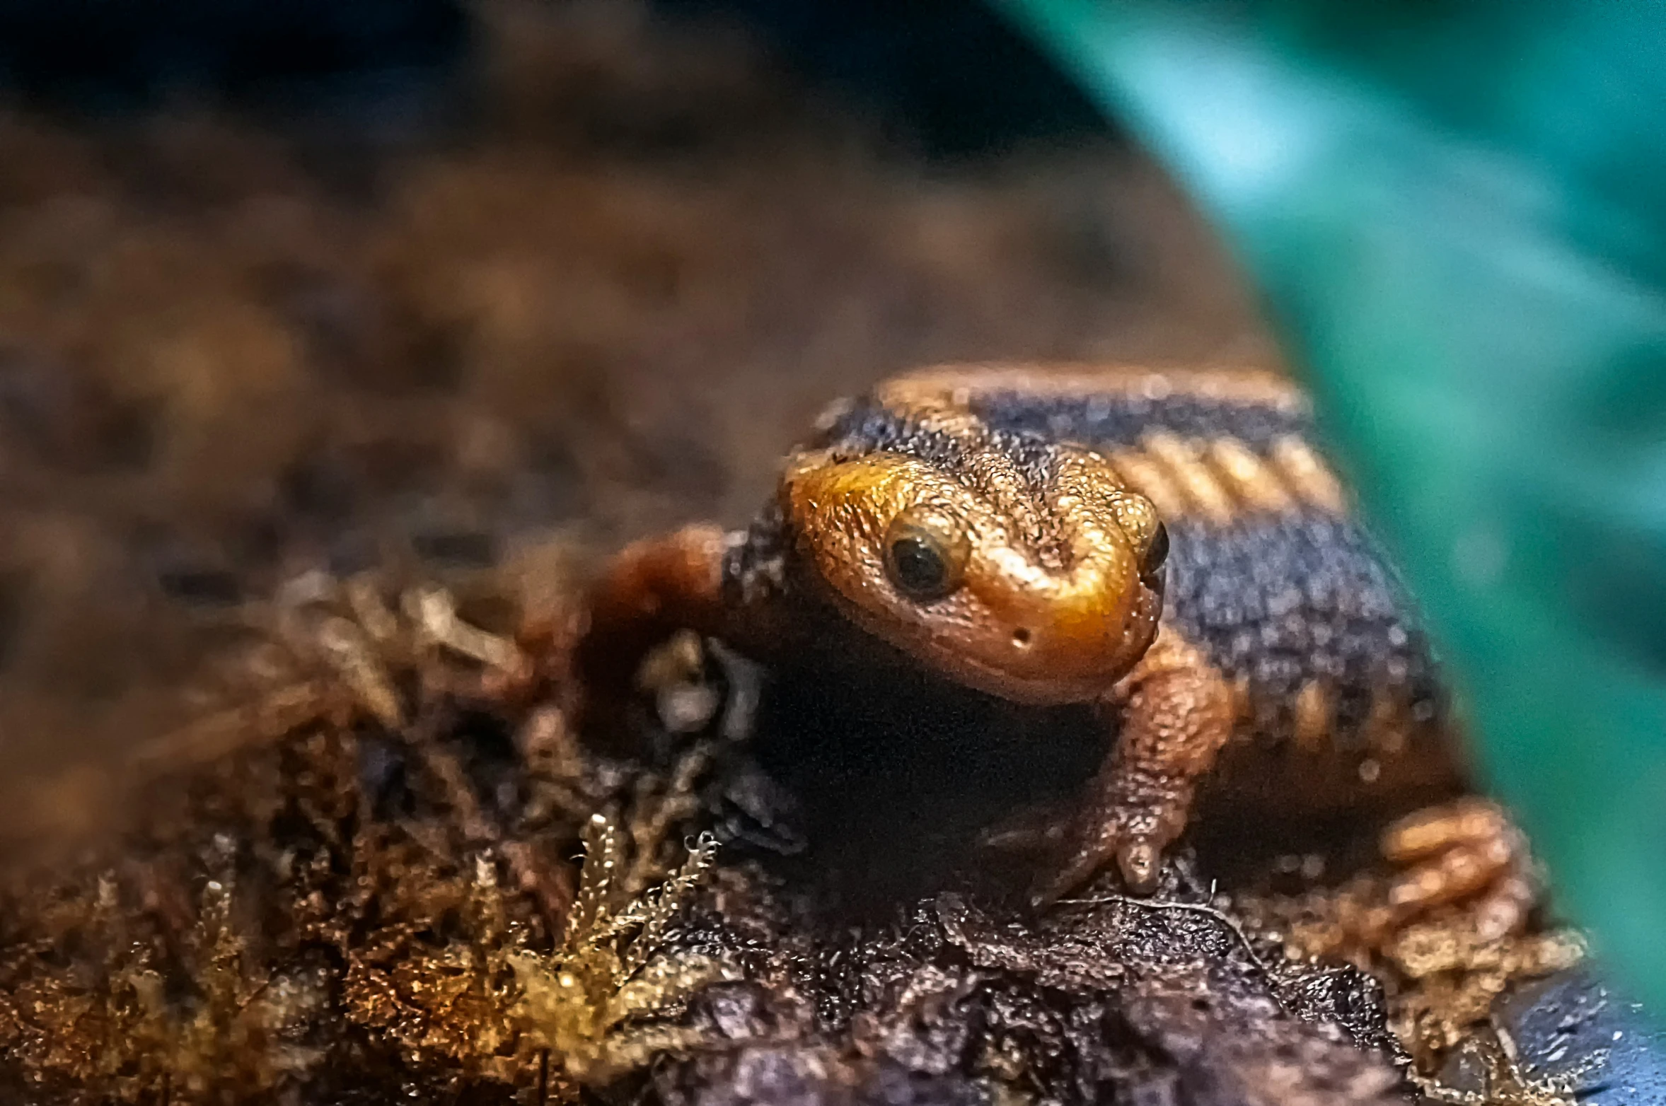
[[[1090,450],[1040,466],[993,446],[953,466],[813,450],[788,463],[781,508],[851,621],[991,695],[1098,698],[1156,635],[1168,533]]]

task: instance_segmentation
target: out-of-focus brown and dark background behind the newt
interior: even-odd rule
[[[690,7],[466,7],[440,93],[368,125],[168,87],[67,110],[13,57],[0,773],[190,716],[217,613],[303,570],[741,523],[816,408],[895,370],[1271,360],[1175,190],[1001,65],[910,115],[850,80],[871,53],[803,65],[815,25]],[[961,100],[1001,110],[940,142]]]

